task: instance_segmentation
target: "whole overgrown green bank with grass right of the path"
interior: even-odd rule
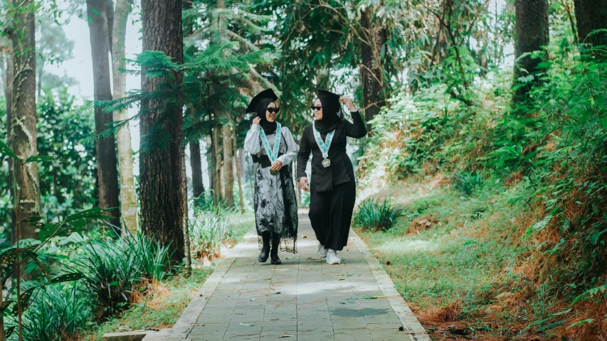
[[[359,223],[361,237],[435,340],[607,337],[607,67],[542,63],[524,106],[495,72],[465,100],[445,83],[403,91],[371,121],[359,207],[389,200],[400,215]]]

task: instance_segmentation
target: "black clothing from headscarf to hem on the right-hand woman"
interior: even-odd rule
[[[326,122],[333,125],[333,117],[334,115],[339,117],[339,112],[328,113],[325,111],[327,110],[325,108],[329,108],[325,104],[328,101],[323,102],[322,97],[320,100],[323,104],[323,119],[315,121],[315,124],[329,117]],[[348,233],[356,200],[354,168],[346,153],[346,138],[360,139],[366,136],[366,127],[359,112],[352,112],[352,121],[354,124],[339,117],[339,123],[335,125],[328,156],[331,166],[327,168],[322,166],[322,152],[316,143],[312,124],[305,127],[300,141],[300,151],[297,153],[297,178],[302,178],[307,177],[305,168],[312,152],[308,216],[318,241],[326,249],[335,251],[341,251],[348,244]],[[323,132],[321,129],[318,131],[324,141],[329,131]]]

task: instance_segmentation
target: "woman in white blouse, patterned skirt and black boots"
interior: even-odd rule
[[[280,109],[271,90],[251,99],[246,112],[255,112],[247,133],[245,150],[255,164],[255,227],[260,240],[258,261],[280,264],[278,248],[296,253],[297,200],[291,163],[297,155],[297,144],[291,131],[275,121]]]

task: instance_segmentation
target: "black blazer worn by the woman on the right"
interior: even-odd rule
[[[300,151],[297,153],[297,179],[307,177],[305,168],[312,152],[312,183],[317,192],[329,192],[333,190],[334,185],[347,183],[354,180],[354,168],[352,161],[346,153],[346,137],[360,139],[366,136],[366,126],[359,112],[352,112],[352,121],[354,124],[345,120],[335,129],[331,148],[329,148],[329,160],[331,166],[324,168],[322,166],[322,152],[314,139],[312,124],[304,128],[302,139],[300,141]],[[322,139],[327,138],[327,134],[320,134]]]

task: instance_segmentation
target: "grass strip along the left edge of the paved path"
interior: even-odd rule
[[[224,240],[225,244],[236,244],[253,224],[254,216],[251,213],[231,215],[230,234]],[[190,276],[179,273],[169,276],[164,282],[153,281],[146,288],[149,291],[147,296],[139,298],[139,301],[131,304],[128,310],[116,318],[100,325],[91,324],[80,340],[101,340],[107,332],[171,328],[213,269],[208,261],[196,262]]]

